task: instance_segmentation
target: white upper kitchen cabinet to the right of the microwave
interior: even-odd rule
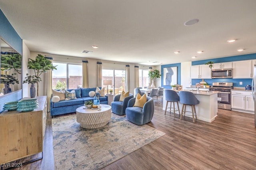
[[[233,62],[233,79],[252,78],[252,60]]]

